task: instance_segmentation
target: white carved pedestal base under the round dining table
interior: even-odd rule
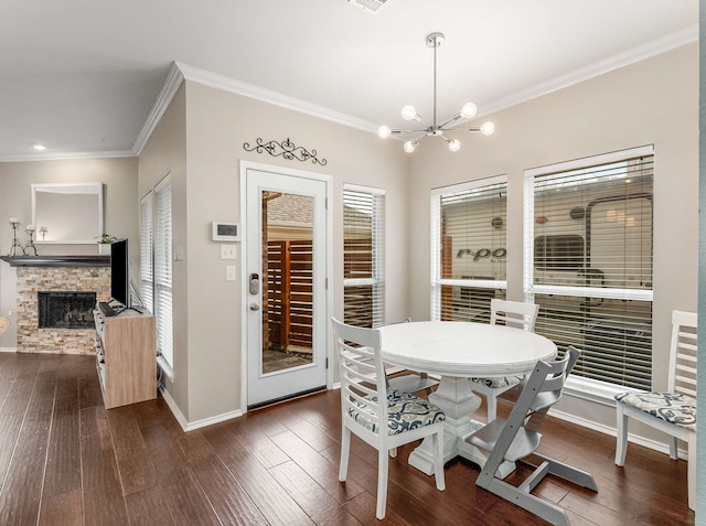
[[[442,376],[438,389],[429,395],[429,401],[446,414],[443,422],[443,462],[456,457],[485,465],[488,454],[466,441],[468,437],[484,426],[471,420],[471,415],[481,405],[481,398],[471,390],[468,378]],[[426,438],[410,454],[409,465],[427,475],[434,474],[434,453],[431,439]],[[515,470],[513,462],[503,462],[498,470],[504,479]]]

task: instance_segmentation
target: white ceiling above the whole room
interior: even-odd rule
[[[173,62],[402,127],[479,116],[698,39],[697,0],[2,0],[0,161],[136,154]],[[49,149],[38,153],[32,143]]]

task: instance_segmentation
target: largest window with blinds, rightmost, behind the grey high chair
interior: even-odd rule
[[[574,374],[652,385],[652,147],[525,172],[535,331],[582,350]]]

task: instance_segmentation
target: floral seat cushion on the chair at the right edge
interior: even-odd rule
[[[620,393],[616,400],[696,431],[696,398],[678,393]]]

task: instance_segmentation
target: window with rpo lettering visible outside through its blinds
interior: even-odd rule
[[[431,192],[431,319],[490,321],[504,298],[507,178]]]

